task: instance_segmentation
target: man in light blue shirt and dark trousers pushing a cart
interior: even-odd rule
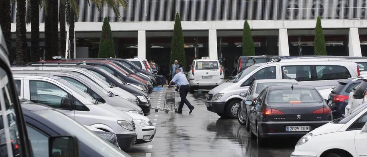
[[[192,106],[191,103],[186,99],[186,96],[188,92],[190,91],[190,85],[189,85],[189,82],[187,81],[186,75],[182,73],[180,69],[176,69],[176,75],[175,77],[172,78],[168,87],[170,87],[172,83],[176,83],[178,85],[179,94],[181,98],[177,113],[182,113],[183,103],[185,103],[187,107],[189,107],[190,109],[189,114],[191,114],[192,110],[195,107]]]

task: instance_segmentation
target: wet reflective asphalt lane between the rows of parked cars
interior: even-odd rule
[[[258,148],[256,140],[235,119],[225,119],[209,112],[205,106],[209,90],[195,91],[187,99],[195,106],[192,114],[185,105],[183,113],[150,111],[148,118],[156,126],[152,142],[128,150],[132,157],[289,157],[298,139],[269,139],[268,146]],[[164,92],[149,95],[152,106],[163,107]],[[176,94],[176,102],[180,98]],[[177,104],[178,106],[178,104]]]

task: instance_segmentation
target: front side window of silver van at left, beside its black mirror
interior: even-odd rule
[[[50,107],[62,109],[61,99],[69,97],[68,93],[54,84],[44,81],[29,81],[30,101],[43,103]]]

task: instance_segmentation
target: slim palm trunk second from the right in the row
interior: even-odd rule
[[[65,28],[65,3],[60,1],[60,52],[59,56],[65,55],[66,49],[66,28]]]

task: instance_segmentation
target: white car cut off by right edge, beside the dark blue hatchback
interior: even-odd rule
[[[347,116],[363,103],[364,92],[367,89],[367,79],[362,79],[363,81],[357,85],[355,90],[353,89],[353,91],[349,93],[348,105],[345,106],[345,114]]]

